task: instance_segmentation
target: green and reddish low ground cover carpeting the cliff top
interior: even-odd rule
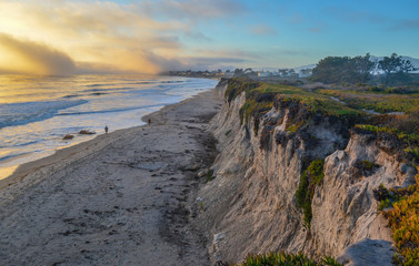
[[[246,102],[240,110],[241,123],[247,123],[250,117],[259,121],[272,106],[288,108],[296,114],[299,113],[296,117],[291,117],[293,120],[287,125],[290,132],[297,132],[307,120],[315,114],[321,114],[347,120],[351,125],[366,124],[391,133],[397,131],[399,137],[419,144],[419,91],[409,90],[409,94],[406,94],[407,89],[386,89],[387,93],[381,93],[386,92],[385,89],[383,91],[305,90],[283,84],[231,79],[226,90],[226,98],[231,102],[246,92]],[[382,115],[371,115],[368,110]],[[395,112],[399,112],[399,115],[386,115]]]

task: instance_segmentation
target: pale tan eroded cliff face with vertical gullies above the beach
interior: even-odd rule
[[[226,86],[226,81],[220,83],[216,93],[223,94]],[[343,254],[342,263],[357,265],[362,262],[346,248],[367,245],[380,249],[378,256],[390,264],[391,232],[377,212],[372,190],[380,184],[411,184],[415,168],[402,162],[388,140],[349,133],[345,122],[330,117],[313,117],[305,130],[287,131],[299,106],[276,104],[259,126],[253,119],[241,124],[245,101],[245,94],[226,101],[209,129],[220,154],[212,166],[216,178],[199,192],[198,222],[210,232],[212,260],[237,263],[249,253],[282,249],[311,256]],[[325,158],[325,177],[315,190],[308,228],[296,191],[313,158]],[[366,161],[375,166],[362,168]]]

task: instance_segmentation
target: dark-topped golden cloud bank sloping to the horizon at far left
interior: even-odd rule
[[[0,33],[1,72],[34,74],[72,74],[74,62],[61,51],[42,43],[17,40]]]

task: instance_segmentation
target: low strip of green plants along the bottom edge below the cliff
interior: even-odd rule
[[[249,255],[242,264],[237,266],[339,266],[335,258],[325,256],[317,262],[299,253],[297,255],[285,252],[268,253],[262,255]]]

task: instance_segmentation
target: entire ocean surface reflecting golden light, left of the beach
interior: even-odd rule
[[[159,75],[0,75],[0,178],[20,165],[212,89],[217,80]],[[80,135],[81,130],[94,135]],[[72,134],[72,140],[62,140]]]

